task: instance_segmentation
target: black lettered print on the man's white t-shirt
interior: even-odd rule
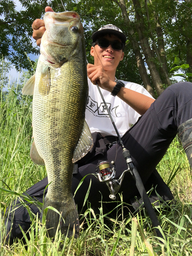
[[[107,102],[106,102],[106,105],[108,106],[108,109],[109,109],[111,115],[117,117],[118,106],[111,108],[111,103],[107,103]],[[104,116],[109,117],[108,111],[106,110],[104,103],[101,102],[100,105],[98,105],[98,102],[93,100],[90,96],[88,97],[86,108],[88,110],[91,110],[91,112],[96,116],[98,115],[98,116],[103,116],[103,117]]]

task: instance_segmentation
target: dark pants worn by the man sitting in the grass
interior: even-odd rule
[[[178,126],[186,120],[192,118],[192,83],[180,82],[168,87],[158,99],[152,103],[150,109],[135,123],[129,131],[122,137],[125,147],[130,151],[132,160],[138,169],[145,187],[151,186],[153,183],[158,184],[158,194],[164,200],[172,200],[173,195],[162,181],[155,170],[156,165],[164,156],[169,144],[177,134]],[[96,135],[100,136],[100,135]],[[78,163],[78,172],[73,175],[72,191],[76,190],[79,182],[83,177],[86,178],[80,186],[74,199],[81,209],[84,197],[86,196],[90,180],[92,180],[91,190],[89,194],[89,202],[92,208],[97,209],[99,202],[109,202],[109,189],[95,177],[95,168],[103,160],[112,160],[116,163],[116,177],[126,169],[126,163],[122,156],[122,148],[119,141],[113,145],[108,151],[100,136],[96,139],[94,153],[90,153],[87,158]],[[89,153],[88,153],[89,154]],[[42,202],[44,189],[47,186],[47,178],[32,186],[27,192],[36,200]],[[135,180],[130,173],[126,173],[120,191],[123,195],[124,202],[130,202],[130,199],[138,195]],[[102,196],[101,196],[102,195]],[[114,205],[111,203],[103,204],[109,210]],[[32,211],[36,214],[38,208],[30,205]],[[12,226],[11,226],[11,218]],[[10,243],[13,238],[22,238],[20,226],[27,231],[30,227],[30,218],[25,207],[19,207],[14,211],[14,216],[8,217],[8,231],[10,231]]]

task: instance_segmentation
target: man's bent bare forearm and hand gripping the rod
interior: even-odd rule
[[[88,77],[93,82],[93,84],[98,83],[98,86],[102,89],[112,92],[116,85],[116,82],[111,80],[110,77],[105,73],[101,66],[94,66],[88,64]],[[117,96],[122,99],[125,103],[130,105],[137,113],[143,115],[151,104],[155,101],[144,94],[135,92],[131,89],[122,87],[117,94]],[[117,97],[116,96],[116,97]],[[113,96],[112,96],[113,97]]]

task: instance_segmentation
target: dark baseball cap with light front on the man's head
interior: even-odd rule
[[[104,27],[100,28],[98,31],[93,33],[92,35],[93,42],[95,42],[99,36],[106,35],[106,34],[116,35],[121,39],[123,44],[125,44],[126,42],[126,36],[123,34],[123,32],[119,28],[117,28],[113,24],[105,25]]]

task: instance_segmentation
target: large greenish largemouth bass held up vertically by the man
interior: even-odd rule
[[[84,119],[88,97],[86,50],[83,28],[75,12],[47,12],[36,73],[23,88],[33,95],[34,142],[31,158],[46,165],[48,208],[46,227],[50,237],[59,225],[62,233],[79,235],[79,221],[71,191],[74,162],[93,144]],[[43,212],[42,210],[42,212]],[[41,213],[42,215],[42,213]],[[63,221],[64,220],[64,221]]]

